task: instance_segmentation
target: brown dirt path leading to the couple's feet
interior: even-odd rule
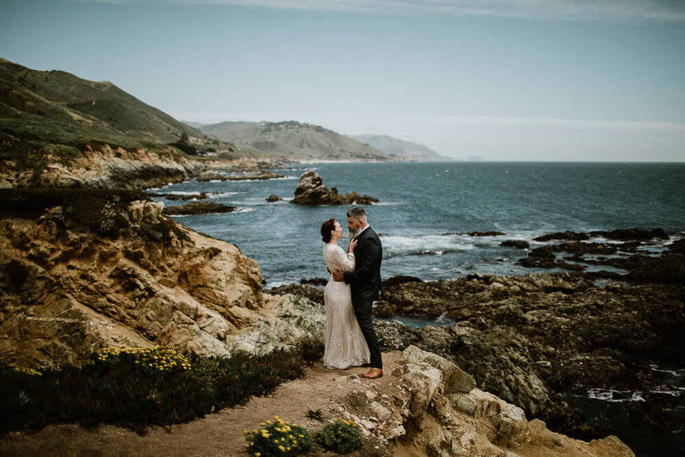
[[[153,427],[146,434],[137,434],[127,428],[103,425],[88,430],[79,425],[49,425],[38,432],[12,432],[0,437],[0,455],[3,456],[247,456],[247,442],[242,430],[252,430],[274,416],[295,421],[313,435],[325,423],[306,417],[308,410],[334,410],[354,397],[353,391],[362,391],[364,385],[374,384],[379,393],[391,392],[393,381],[390,371],[397,367],[401,352],[383,356],[384,376],[379,380],[365,380],[361,384],[337,382],[346,375],[362,375],[368,369],[351,367],[333,370],[323,367],[321,361],[308,368],[298,380],[279,386],[266,397],[253,397],[242,406],[226,408],[189,423],[173,425],[170,429]],[[352,394],[352,395],[349,395]],[[349,410],[349,409],[348,409]],[[335,419],[325,414],[325,419]],[[395,456],[421,456],[411,443],[391,449]],[[308,456],[338,456],[314,444]],[[364,447],[356,456],[388,455],[373,438],[364,439]]]

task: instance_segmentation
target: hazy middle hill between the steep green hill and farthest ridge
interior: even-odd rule
[[[318,125],[295,121],[223,122],[199,129],[238,147],[297,160],[403,160]]]

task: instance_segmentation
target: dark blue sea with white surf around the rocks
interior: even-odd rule
[[[449,280],[473,272],[522,275],[536,271],[516,264],[527,253],[500,243],[526,240],[534,249],[546,243],[532,238],[566,230],[661,227],[671,240],[647,246],[654,254],[673,239],[685,237],[683,163],[316,163],[274,170],[285,175],[276,180],[192,180],[155,191],[208,192],[212,201],[236,206],[238,209],[231,213],[175,219],[237,245],[243,254],[258,261],[266,280],[264,287],[271,288],[302,279],[327,278],[321,254],[321,223],[334,217],[347,227],[349,206],[289,203],[300,175],[308,170],[315,170],[324,184],[338,188],[340,193],[356,190],[381,201],[365,209],[383,243],[384,279],[411,275],[422,280]],[[271,194],[283,200],[267,203],[266,197]],[[166,206],[183,203],[165,199]],[[490,231],[503,235],[468,235]],[[340,240],[341,247],[344,240]],[[405,323],[414,327],[425,324],[410,319]],[[664,371],[660,367],[655,370]],[[685,366],[669,367],[664,372],[676,373],[680,387],[673,395],[682,395]],[[682,433],[640,428],[625,421],[621,408],[626,401],[640,401],[640,395],[622,393],[623,399],[614,401],[611,392],[573,391],[567,399],[606,425],[608,433],[619,436],[638,456],[670,455],[685,447]],[[680,409],[679,417],[685,417],[684,408]]]

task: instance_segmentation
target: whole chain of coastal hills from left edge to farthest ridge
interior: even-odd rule
[[[423,145],[389,136],[343,136],[318,125],[173,119],[111,82],[64,71],[37,71],[0,58],[0,139],[130,148],[174,145],[187,153],[281,156],[293,160],[448,160]],[[188,151],[186,147],[192,146]]]

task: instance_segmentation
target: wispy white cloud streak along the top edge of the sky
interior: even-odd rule
[[[103,1],[103,0],[90,0]],[[108,0],[104,0],[108,1]],[[122,0],[111,0],[122,1]],[[125,1],[125,0],[124,0]],[[164,0],[129,0],[164,1]],[[166,0],[174,3],[242,5],[283,10],[373,13],[440,13],[561,21],[685,22],[682,0]]]

